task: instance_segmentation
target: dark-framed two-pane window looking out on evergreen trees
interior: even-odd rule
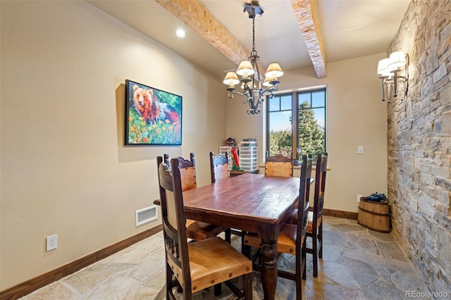
[[[278,94],[267,101],[267,108],[269,156],[297,158],[297,149],[300,154],[326,151],[326,89]]]

